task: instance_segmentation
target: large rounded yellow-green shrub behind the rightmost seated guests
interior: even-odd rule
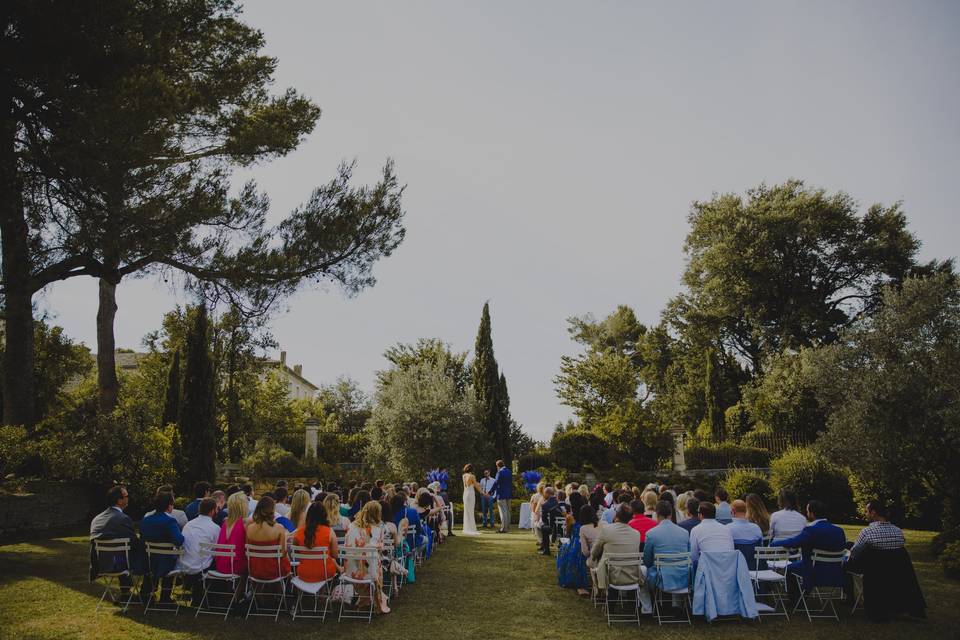
[[[791,487],[801,505],[813,499],[822,500],[834,519],[849,519],[856,512],[846,470],[811,447],[792,447],[771,462],[770,486],[774,494]]]

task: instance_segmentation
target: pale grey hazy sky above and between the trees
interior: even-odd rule
[[[655,324],[681,290],[690,203],[788,178],[865,208],[902,201],[921,258],[957,255],[960,3],[315,2],[251,0],[275,88],[323,109],[253,178],[279,220],[356,159],[393,158],[407,236],[353,298],[305,289],[272,331],[316,384],[373,391],[383,351],[473,347],[490,302],[511,409],[534,438],[556,398],[566,319],[630,305]],[[40,309],[95,349],[96,281]],[[152,278],[117,290],[118,347],[187,300]]]

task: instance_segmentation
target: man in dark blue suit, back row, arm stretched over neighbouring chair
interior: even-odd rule
[[[799,574],[803,580],[803,590],[809,591],[815,586],[843,586],[843,565],[824,564],[813,572],[813,550],[843,551],[847,547],[847,536],[843,529],[831,524],[827,518],[827,505],[820,500],[807,503],[807,520],[810,524],[792,538],[771,542],[771,547],[800,549],[802,559],[787,566],[789,573]]]

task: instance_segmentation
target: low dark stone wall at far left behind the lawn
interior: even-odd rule
[[[0,484],[0,535],[89,522],[102,502],[92,486],[76,482],[4,482]]]

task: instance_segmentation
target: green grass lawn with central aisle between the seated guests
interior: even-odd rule
[[[855,528],[848,530],[848,535]],[[720,622],[708,628],[673,625],[654,631],[620,625],[608,630],[603,616],[584,598],[556,586],[550,560],[534,553],[530,532],[482,538],[456,537],[423,567],[416,585],[394,602],[394,612],[370,625],[357,621],[270,620],[224,622],[214,616],[195,619],[112,607],[94,613],[98,589],[87,583],[87,540],[83,536],[37,537],[0,543],[0,637],[2,638],[636,638],[657,633],[667,638],[776,638],[830,640],[870,638],[957,638],[960,629],[960,582],[945,580],[928,545],[933,534],[908,532],[929,620],[875,625],[862,613],[843,622],[810,624]],[[242,636],[240,635],[242,634]]]

